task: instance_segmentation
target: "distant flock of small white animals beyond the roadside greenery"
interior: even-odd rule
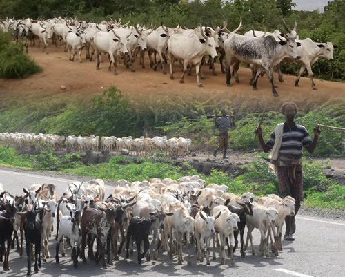
[[[69,135],[46,135],[34,133],[0,133],[0,143],[10,145],[17,150],[30,149],[32,145],[46,142],[52,149],[66,149],[83,153],[86,151],[119,151],[127,149],[131,155],[150,155],[152,151],[165,151],[166,156],[183,156],[189,151],[192,140],[184,137],[89,137]]]

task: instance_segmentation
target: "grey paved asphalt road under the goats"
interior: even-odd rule
[[[15,173],[0,170],[0,182],[10,193],[20,195],[23,187],[30,184],[43,184],[52,182],[57,185],[59,195],[63,193],[69,182],[58,178],[49,178],[29,173]],[[106,195],[112,191],[107,187]],[[1,230],[0,230],[1,231]],[[283,230],[284,231],[284,230]],[[259,251],[259,231],[253,231],[255,251]],[[55,236],[54,236],[55,237]],[[24,243],[25,245],[25,243]],[[241,258],[239,252],[235,253],[235,266],[220,265],[219,251],[217,259],[211,260],[206,266],[206,261],[201,265],[193,253],[192,265],[177,265],[177,257],[170,260],[166,253],[159,255],[159,260],[137,265],[136,252],[130,259],[124,260],[121,254],[119,262],[102,269],[100,265],[89,261],[87,265],[79,262],[79,267],[72,267],[70,249],[66,251],[68,257],[60,258],[60,264],[55,264],[55,258],[43,262],[39,274],[34,276],[345,276],[345,221],[325,220],[307,216],[297,216],[297,232],[295,242],[283,242],[283,251],[279,256],[263,258],[259,255],[252,256],[247,250],[246,258]],[[50,254],[55,256],[55,240],[50,238]],[[212,247],[211,247],[212,249]],[[211,250],[212,251],[212,250]],[[0,271],[0,276],[26,276],[26,254],[23,258],[11,250],[10,271]],[[186,249],[184,249],[184,257]],[[2,266],[1,266],[2,269]],[[32,267],[33,270],[33,267]]]

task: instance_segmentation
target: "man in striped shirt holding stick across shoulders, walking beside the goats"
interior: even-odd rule
[[[270,153],[271,166],[277,174],[279,190],[284,197],[292,196],[295,198],[296,216],[303,200],[302,147],[313,153],[321,130],[319,127],[314,128],[314,140],[312,140],[306,128],[295,122],[297,106],[293,102],[285,103],[282,106],[282,113],[285,115],[286,122],[277,125],[267,143],[262,138],[262,128],[258,127],[255,133],[265,152],[272,149]],[[293,237],[296,231],[295,216],[286,216],[284,240],[295,240]]]

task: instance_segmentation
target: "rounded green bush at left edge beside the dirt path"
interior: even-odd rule
[[[23,78],[40,71],[41,68],[24,54],[23,46],[10,43],[8,34],[0,31],[0,78]]]

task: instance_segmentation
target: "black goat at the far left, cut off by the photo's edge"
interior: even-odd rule
[[[0,200],[4,210],[0,216],[0,262],[3,262],[3,270],[10,270],[8,262],[8,256],[10,256],[10,246],[12,242],[13,223],[14,216],[16,214],[16,207],[14,204],[10,204],[6,198],[5,201]],[[5,242],[7,241],[7,249],[5,248]],[[5,259],[3,260],[3,253]]]

